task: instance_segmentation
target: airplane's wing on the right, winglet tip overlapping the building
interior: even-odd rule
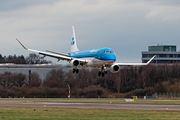
[[[119,66],[140,66],[140,65],[148,65],[156,55],[154,55],[147,63],[116,63]]]

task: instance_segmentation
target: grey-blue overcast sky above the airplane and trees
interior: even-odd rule
[[[29,55],[15,38],[27,48],[68,53],[71,26],[80,50],[109,47],[117,62],[141,62],[141,52],[158,43],[180,50],[179,0],[0,0],[0,5],[3,56]]]

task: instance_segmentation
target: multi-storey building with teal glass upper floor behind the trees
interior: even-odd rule
[[[175,45],[148,46],[148,51],[142,52],[142,63],[146,63],[156,55],[151,63],[174,63],[180,62],[180,52],[176,51]]]

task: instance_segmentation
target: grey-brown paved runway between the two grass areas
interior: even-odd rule
[[[46,100],[0,100],[0,107],[46,107],[79,109],[127,109],[180,111],[180,105],[117,104],[117,103],[64,103]]]

